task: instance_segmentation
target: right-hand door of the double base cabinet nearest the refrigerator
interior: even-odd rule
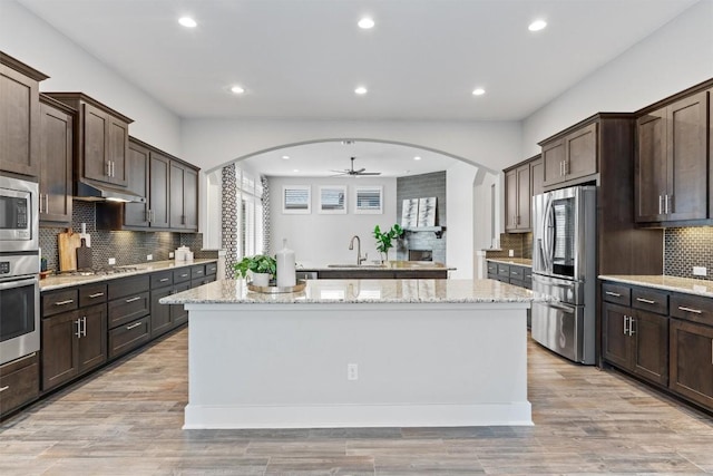
[[[668,318],[636,311],[632,322],[634,373],[668,385]]]

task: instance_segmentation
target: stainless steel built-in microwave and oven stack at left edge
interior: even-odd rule
[[[39,186],[0,176],[0,365],[40,349]]]

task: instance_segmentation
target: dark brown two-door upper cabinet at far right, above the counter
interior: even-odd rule
[[[636,222],[704,220],[707,213],[709,93],[636,120]]]

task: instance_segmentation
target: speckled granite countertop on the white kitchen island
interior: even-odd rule
[[[295,293],[260,293],[244,280],[218,280],[163,298],[162,304],[487,303],[551,298],[494,280],[306,280]]]

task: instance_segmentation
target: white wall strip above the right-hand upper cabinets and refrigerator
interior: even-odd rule
[[[635,111],[713,78],[713,1],[702,0],[529,116],[522,158],[599,111]]]

